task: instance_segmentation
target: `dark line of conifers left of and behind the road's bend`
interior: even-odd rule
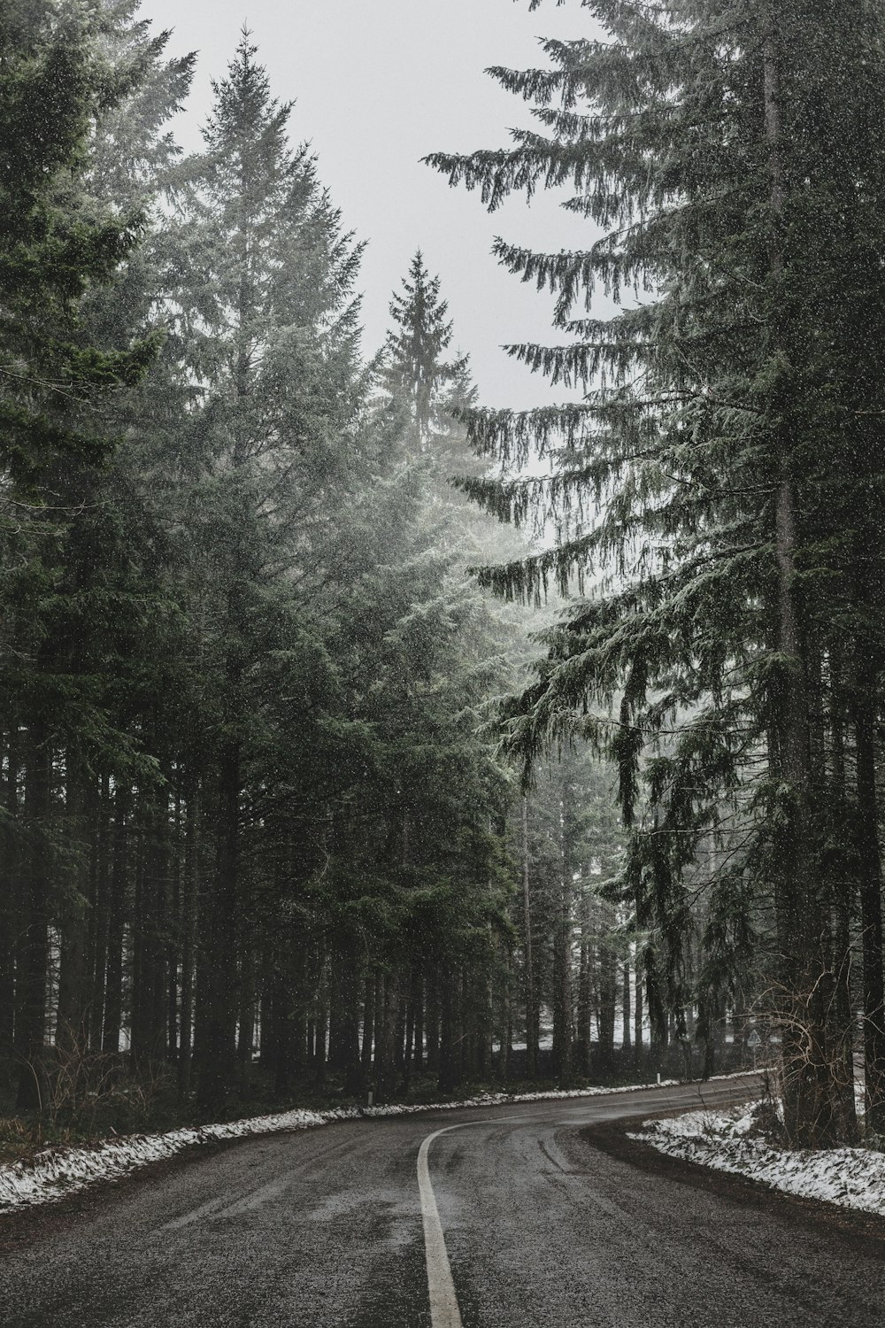
[[[137,9],[0,15],[0,1093],[610,1072],[624,847],[598,765],[564,830],[488,730],[525,618],[468,568],[527,546],[450,483],[487,466],[439,283],[366,364],[248,35],[186,158],[194,60]]]

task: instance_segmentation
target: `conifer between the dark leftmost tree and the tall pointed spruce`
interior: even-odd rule
[[[179,697],[184,691],[178,659],[183,633],[170,584],[172,547],[163,529],[158,454],[170,410],[178,406],[180,412],[186,396],[175,382],[176,339],[163,325],[167,320],[161,312],[174,228],[163,218],[161,230],[159,220],[179,158],[169,122],[190,86],[194,57],[170,60],[169,33],[153,36],[137,11],[133,0],[107,0],[100,9],[97,45],[122,92],[93,125],[85,186],[98,206],[138,210],[149,228],[121,264],[113,286],[89,293],[82,317],[97,339],[113,340],[121,328],[138,327],[145,335],[162,337],[162,344],[146,380],[105,405],[106,428],[125,436],[125,445],[109,465],[84,470],[89,503],[66,523],[65,578],[80,588],[82,603],[74,599],[68,631],[62,628],[61,633],[76,643],[69,652],[70,672],[84,677],[93,697],[101,697],[103,732],[98,729],[98,741],[93,733],[73,748],[82,788],[69,789],[68,797],[73,794],[74,806],[82,805],[78,854],[84,867],[82,886],[69,892],[61,918],[64,981],[57,1038],[68,1037],[77,1046],[105,1042],[115,1049],[119,1031],[113,1019],[105,1025],[105,1008],[122,1001],[127,985],[130,1045],[141,1064],[147,1054],[162,1057],[167,1032],[161,995],[167,976],[163,938],[175,927],[162,875],[169,831],[163,815],[171,772],[169,738],[175,721],[169,726],[158,722],[157,696]],[[96,612],[98,600],[103,612]],[[180,718],[180,708],[170,704],[170,720],[172,709]],[[126,911],[131,924],[129,955],[122,954],[122,936],[110,944],[97,879],[100,865],[94,847],[89,847],[102,819],[111,817],[111,784],[118,794],[122,785],[138,785],[151,806],[147,819],[155,837],[147,865],[142,866],[137,907]],[[117,801],[114,818],[115,811]],[[109,967],[119,971],[118,993],[110,991],[115,983],[109,983]]]

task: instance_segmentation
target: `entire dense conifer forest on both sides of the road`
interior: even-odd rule
[[[421,236],[364,347],[248,33],[186,155],[138,0],[0,11],[0,1112],[702,1076],[754,1029],[791,1141],[856,1137],[856,1054],[885,1133],[885,16],[584,8],[492,70],[533,129],[429,158],[586,218],[496,243],[556,296],[511,352],[581,389],[523,413]]]

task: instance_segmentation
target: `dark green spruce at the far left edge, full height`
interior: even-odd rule
[[[102,16],[74,4],[13,3],[0,16],[3,222],[0,222],[0,461],[5,651],[8,869],[0,944],[4,1032],[15,1025],[19,1104],[40,1100],[49,991],[49,926],[77,898],[72,854],[53,829],[56,753],[64,745],[65,813],[76,843],[74,730],[101,728],[69,667],[72,610],[61,548],[90,497],[90,466],[119,441],[107,397],[134,388],[157,341],[134,321],[97,335],[93,292],[133,254],[135,208],[96,206],[88,185],[92,129],[133,85],[100,49]],[[81,600],[82,603],[82,600]],[[76,612],[74,612],[76,618]],[[62,738],[62,733],[65,737]],[[69,984],[62,973],[60,1001]],[[9,1016],[12,1012],[12,1017]]]

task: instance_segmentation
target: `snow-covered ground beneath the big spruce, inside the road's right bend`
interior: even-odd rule
[[[752,1123],[752,1110],[747,1106],[689,1112],[671,1121],[645,1121],[642,1133],[630,1138],[670,1157],[762,1181],[787,1194],[885,1215],[885,1153],[778,1149],[751,1134]]]

